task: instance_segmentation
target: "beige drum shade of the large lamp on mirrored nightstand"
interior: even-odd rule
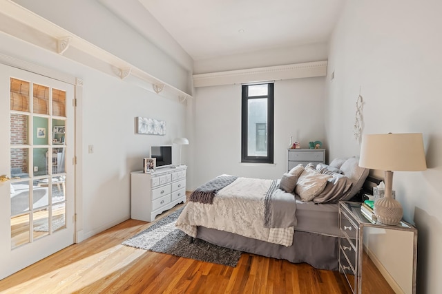
[[[422,134],[363,135],[359,166],[383,171],[427,169]]]

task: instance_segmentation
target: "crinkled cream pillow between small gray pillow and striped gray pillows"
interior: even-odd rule
[[[307,166],[298,178],[295,192],[302,201],[311,201],[324,190],[327,180],[331,177],[326,174],[320,174],[312,167]]]

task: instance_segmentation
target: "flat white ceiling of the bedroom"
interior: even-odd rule
[[[151,37],[155,29],[151,22],[147,25],[146,19],[155,18],[193,61],[327,42],[345,3],[345,0],[136,0],[135,13],[135,6],[128,5],[135,1],[99,1],[144,36]],[[141,11],[143,6],[146,9]]]

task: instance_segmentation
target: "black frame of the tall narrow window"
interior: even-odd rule
[[[249,86],[266,85],[267,95],[249,96]],[[248,156],[248,122],[249,100],[267,98],[267,156]],[[274,109],[274,84],[255,83],[242,85],[242,109],[241,109],[241,162],[273,163],[273,109]]]

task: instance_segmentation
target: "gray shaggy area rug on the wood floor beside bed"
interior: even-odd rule
[[[151,227],[141,233],[137,233],[137,235],[124,241],[122,244],[183,258],[235,267],[240,259],[241,251],[224,248],[199,239],[191,243],[189,235],[175,227],[175,222],[178,216],[180,216],[182,209],[178,209],[169,216],[166,216],[166,218],[155,222]]]

